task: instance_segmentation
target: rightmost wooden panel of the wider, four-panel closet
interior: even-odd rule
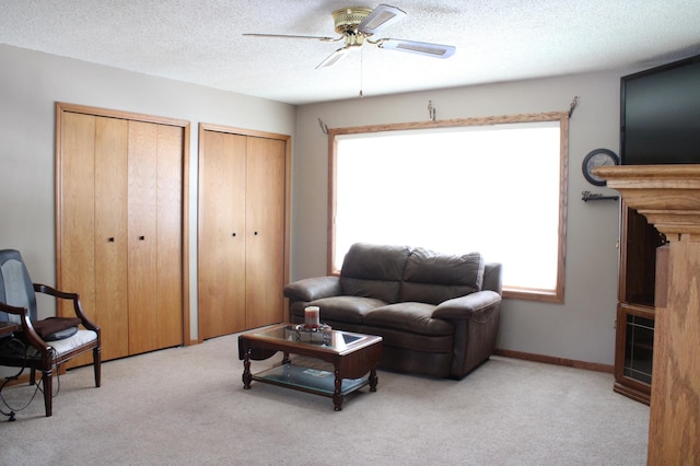
[[[158,127],[158,346],[183,341],[183,128]]]

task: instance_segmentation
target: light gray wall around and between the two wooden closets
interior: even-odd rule
[[[0,44],[0,248],[20,249],[32,279],[46,284],[56,283],[56,102],[190,121],[190,338],[197,338],[198,124],[293,135],[296,108]],[[42,316],[55,314],[51,307]]]

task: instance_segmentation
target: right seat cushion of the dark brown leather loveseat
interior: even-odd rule
[[[364,325],[418,335],[453,335],[455,328],[452,323],[432,318],[434,308],[432,304],[417,302],[387,304],[366,312]]]

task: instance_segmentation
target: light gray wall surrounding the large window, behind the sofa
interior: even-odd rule
[[[559,305],[505,300],[498,347],[614,364],[619,203],[581,200],[583,190],[616,194],[590,185],[583,178],[581,163],[593,149],[619,151],[619,78],[622,74],[626,72],[365,96],[300,107],[293,161],[292,279],[326,271],[328,141],[318,118],[330,128],[424,121],[429,119],[429,101],[436,107],[438,119],[563,112],[569,109],[574,96],[579,96],[569,132],[565,302]],[[364,92],[369,95],[371,89]],[[505,186],[495,188],[506,189]],[[481,201],[488,202],[488,193],[485,196]],[[479,219],[474,221],[478,224]],[[513,232],[513,241],[517,240],[517,232]],[[523,244],[523,247],[532,248],[536,260],[537,245]],[[465,246],[465,252],[472,249],[478,249],[478,245]]]

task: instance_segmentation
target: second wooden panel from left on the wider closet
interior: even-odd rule
[[[129,354],[127,313],[127,153],[129,124],[96,118],[95,313],[104,360]]]

